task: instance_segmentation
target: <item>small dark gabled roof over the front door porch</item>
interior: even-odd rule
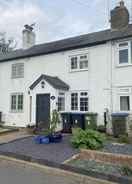
[[[43,79],[55,89],[69,90],[69,86],[58,77],[52,77],[44,74],[42,74],[35,82],[33,82],[33,84],[29,88],[33,90]]]

